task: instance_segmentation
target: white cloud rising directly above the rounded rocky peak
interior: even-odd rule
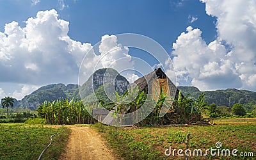
[[[96,47],[96,48],[95,48]],[[134,62],[128,54],[129,48],[118,44],[115,35],[104,35],[101,38],[99,46],[96,45],[92,51],[86,54],[83,64],[80,68],[79,84],[83,84],[93,71],[99,68],[114,68],[118,72],[134,69]],[[99,47],[99,52],[95,52]],[[133,81],[134,72],[125,72],[124,75],[129,81]]]

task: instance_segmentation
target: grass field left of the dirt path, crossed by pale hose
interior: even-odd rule
[[[0,124],[0,159],[38,159],[42,150],[42,159],[58,159],[67,144],[70,129],[65,127],[43,127],[43,125]]]

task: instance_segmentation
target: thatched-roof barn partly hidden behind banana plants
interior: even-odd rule
[[[173,99],[177,100],[179,95],[179,89],[175,86],[175,84],[172,83],[170,78],[168,78],[166,74],[164,74],[161,68],[157,68],[153,72],[150,72],[149,74],[137,79],[136,81],[134,81],[131,87],[133,88],[135,85],[138,86],[139,90],[143,90],[145,94],[152,95],[152,99],[154,99],[156,102],[159,99],[161,88],[163,92],[166,93],[166,98],[168,97],[168,99],[171,101],[173,101]],[[182,97],[184,96],[182,95]],[[125,108],[125,113],[131,112],[129,111],[129,109],[130,107],[127,106],[127,108]],[[175,108],[162,107],[161,109],[163,109],[164,113],[164,116],[161,118],[161,124],[178,124],[183,116],[180,115],[180,113],[177,113],[175,111]],[[114,111],[111,111],[111,113],[109,113],[108,115],[104,115],[105,118],[102,121],[104,124],[113,124],[113,112]],[[196,122],[198,120],[200,120],[200,115],[198,114],[192,115],[191,118],[189,118],[190,122]]]

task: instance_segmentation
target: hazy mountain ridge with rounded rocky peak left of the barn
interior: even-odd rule
[[[83,98],[92,97],[92,88],[95,92],[95,95],[98,99],[107,100],[108,97],[104,94],[103,81],[111,81],[114,79],[115,90],[122,94],[127,90],[127,86],[129,82],[125,77],[121,76],[116,70],[112,68],[108,68],[108,72],[106,73],[107,68],[102,68],[93,73],[89,79],[80,86],[80,93]],[[106,73],[106,74],[105,74]],[[93,84],[92,84],[93,83]],[[104,84],[105,85],[105,84]],[[105,88],[108,88],[109,83],[106,84]],[[38,108],[38,105],[42,104],[45,100],[53,101],[56,99],[80,99],[79,95],[79,85],[78,84],[49,84],[46,86],[42,86],[35,90],[29,95],[26,95],[23,99],[17,100],[15,99],[13,108],[29,108],[31,110],[35,110]]]

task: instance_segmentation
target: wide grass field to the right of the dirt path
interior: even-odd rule
[[[189,150],[192,150],[189,159],[256,159],[255,118],[214,120],[214,124],[216,125],[119,128],[118,132],[115,127],[106,125],[96,125],[96,127],[109,141],[116,154],[124,159],[184,159],[177,155],[177,150],[186,150],[185,141],[188,133],[191,134]],[[193,156],[194,149],[201,149],[202,154],[205,154],[206,149],[218,149],[217,142],[222,144],[219,148],[219,156],[217,150],[216,156],[212,156],[209,152],[207,156],[197,156],[197,152],[195,152],[196,156]],[[172,154],[165,156],[165,150],[170,147]],[[177,149],[174,156],[173,149]],[[230,156],[225,156],[225,152],[221,156],[222,149],[230,150]],[[237,149],[235,152],[237,156],[232,156],[234,149]],[[251,155],[242,157],[241,152]]]

